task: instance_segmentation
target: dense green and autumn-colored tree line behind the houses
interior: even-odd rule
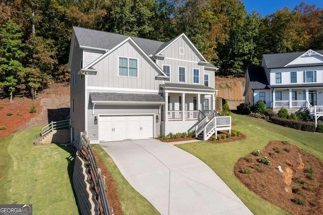
[[[240,0],[3,0],[0,17],[0,88],[11,97],[69,80],[72,26],[160,41],[185,33],[223,76],[243,76],[262,54],[323,49],[323,10],[306,3],[262,17]]]

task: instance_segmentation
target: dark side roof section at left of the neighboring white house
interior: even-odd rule
[[[270,89],[269,83],[262,66],[249,66],[247,68],[250,87],[252,90]]]

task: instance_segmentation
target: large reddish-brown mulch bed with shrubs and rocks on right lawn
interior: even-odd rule
[[[273,149],[281,152],[277,153]],[[258,162],[263,156],[270,159],[271,166]],[[284,173],[278,170],[278,166]],[[243,168],[252,172],[243,174],[240,172]],[[310,168],[314,173],[306,172]],[[272,141],[261,155],[249,154],[240,158],[234,171],[250,190],[292,214],[323,214],[323,161],[292,144]],[[292,199],[300,199],[304,205],[293,203]]]

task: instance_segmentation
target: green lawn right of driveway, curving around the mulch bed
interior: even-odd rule
[[[323,134],[282,127],[238,114],[232,115],[232,121],[237,124],[233,129],[246,134],[247,139],[225,144],[195,142],[177,147],[210,166],[254,214],[288,214],[249,191],[235,176],[234,165],[250,152],[264,149],[271,140],[287,140],[323,160]]]

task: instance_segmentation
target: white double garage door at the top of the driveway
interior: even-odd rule
[[[100,116],[99,141],[153,138],[153,116]]]

